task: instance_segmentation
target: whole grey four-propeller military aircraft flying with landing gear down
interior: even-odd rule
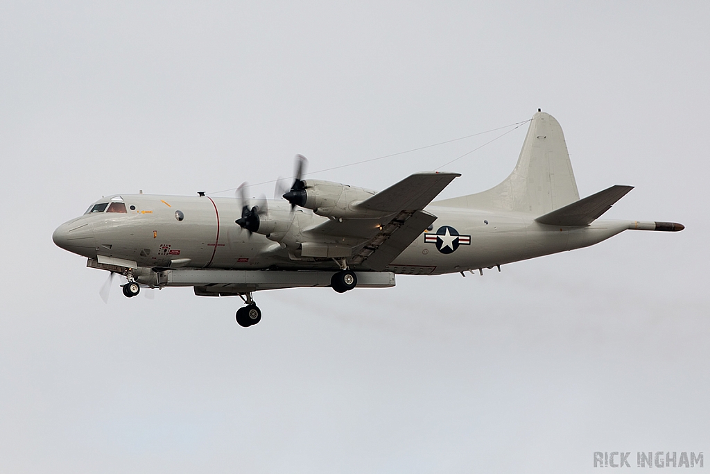
[[[599,243],[624,230],[678,231],[674,222],[600,220],[632,186],[579,199],[562,128],[530,121],[513,173],[482,193],[434,201],[458,173],[416,173],[376,192],[295,180],[285,200],[123,194],[102,198],[55,230],[55,244],[87,266],[126,277],[123,292],[192,286],[198,296],[240,296],[244,326],[261,321],[252,293],[395,285],[395,274],[483,269]]]

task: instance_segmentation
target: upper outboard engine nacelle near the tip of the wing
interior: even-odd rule
[[[359,208],[358,204],[371,198],[376,191],[357,188],[332,181],[302,180],[283,197],[293,205],[312,209],[323,217],[366,219],[382,212]]]

